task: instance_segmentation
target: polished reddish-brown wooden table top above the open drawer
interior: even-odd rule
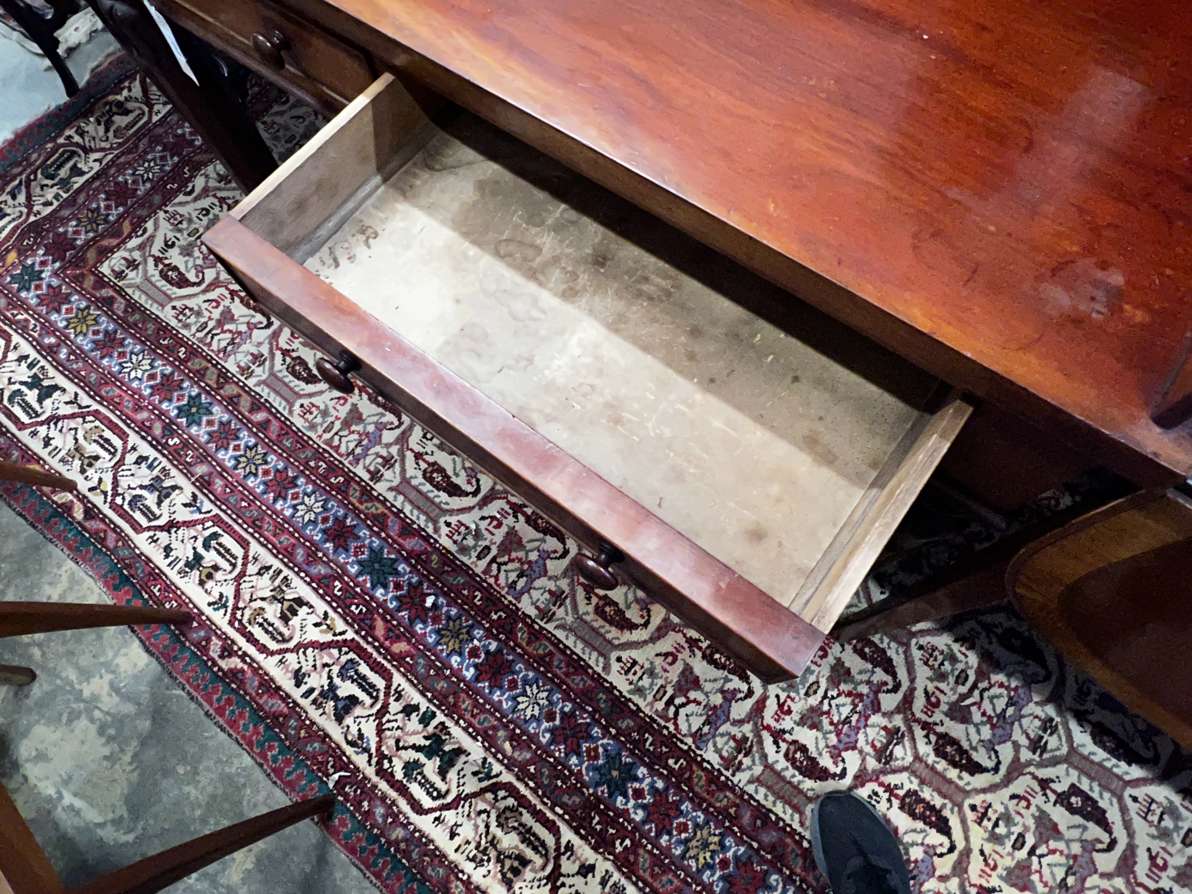
[[[1192,472],[1192,5],[329,6]]]

